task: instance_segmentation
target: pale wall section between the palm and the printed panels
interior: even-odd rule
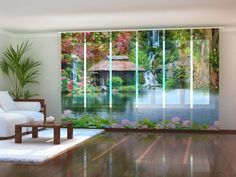
[[[32,56],[41,61],[40,85],[34,85],[32,91],[39,93],[39,98],[46,99],[47,114],[61,116],[61,37],[58,33],[16,35],[11,43],[23,41],[32,43]]]

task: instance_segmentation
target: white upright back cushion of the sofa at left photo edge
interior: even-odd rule
[[[8,91],[0,91],[0,106],[4,111],[16,109],[16,105]]]

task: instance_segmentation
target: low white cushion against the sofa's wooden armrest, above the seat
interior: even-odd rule
[[[41,109],[40,102],[15,102],[16,110],[28,110],[39,112]]]

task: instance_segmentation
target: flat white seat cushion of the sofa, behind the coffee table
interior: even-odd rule
[[[43,121],[44,115],[41,112],[36,111],[28,111],[28,110],[14,110],[14,111],[8,111],[8,113],[15,113],[15,114],[21,114],[23,116],[26,116],[26,121]]]

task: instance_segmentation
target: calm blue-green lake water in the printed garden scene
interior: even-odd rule
[[[218,120],[218,96],[209,91],[196,90],[193,94],[193,110],[190,109],[190,91],[175,89],[166,91],[166,109],[162,109],[162,90],[146,89],[139,92],[138,107],[135,105],[135,93],[113,93],[112,109],[109,108],[108,93],[87,93],[87,107],[83,107],[83,94],[64,96],[62,110],[72,110],[74,117],[80,117],[83,112],[98,114],[102,117],[112,115],[116,119],[150,120],[191,119],[197,123],[212,124]],[[164,112],[163,112],[164,111]]]

